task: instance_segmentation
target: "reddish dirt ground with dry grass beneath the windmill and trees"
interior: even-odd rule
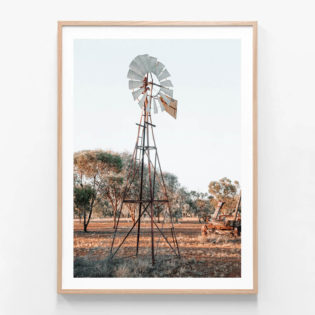
[[[115,247],[130,229],[124,221],[117,233]],[[113,260],[109,259],[112,241],[112,222],[92,221],[89,233],[75,221],[74,276],[75,277],[240,277],[241,237],[219,231],[206,237],[200,235],[197,221],[189,220],[175,225],[181,260],[172,254],[168,244],[155,230],[156,264],[151,264],[151,237],[149,224],[141,225],[139,255],[135,257],[136,234],[132,232]],[[162,225],[159,225],[162,228]],[[165,233],[168,225],[164,225]],[[127,257],[127,258],[126,258]]]

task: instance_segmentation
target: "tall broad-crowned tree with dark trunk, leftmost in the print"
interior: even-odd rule
[[[80,206],[85,218],[83,225],[85,232],[93,209],[97,204],[104,202],[104,190],[108,189],[110,178],[119,174],[121,170],[122,160],[117,154],[101,150],[81,151],[74,154],[74,198],[77,197],[79,200],[85,195],[85,202]],[[93,193],[88,194],[87,191],[82,190],[87,187]],[[81,188],[81,191],[78,188]]]

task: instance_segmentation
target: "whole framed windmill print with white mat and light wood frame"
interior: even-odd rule
[[[257,293],[257,23],[58,24],[58,293]]]

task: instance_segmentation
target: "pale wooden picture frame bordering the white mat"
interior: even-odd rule
[[[65,129],[65,117],[63,113],[63,73],[65,60],[63,58],[64,30],[69,27],[179,27],[179,28],[249,28],[252,32],[252,286],[250,288],[185,288],[185,289],[137,289],[137,288],[69,288],[63,285],[63,201],[67,196],[63,195],[63,132]],[[68,196],[69,197],[69,196]],[[59,294],[257,294],[258,292],[258,249],[257,249],[257,22],[252,21],[59,21],[58,22],[58,273],[57,292]]]

